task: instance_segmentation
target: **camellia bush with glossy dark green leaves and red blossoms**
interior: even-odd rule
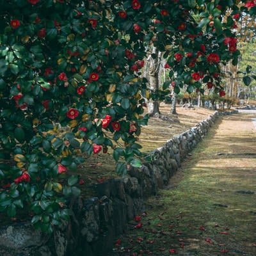
[[[52,232],[68,220],[72,171],[84,154],[113,149],[116,172],[140,166],[148,116],[148,47],[164,52],[179,92],[220,85],[236,64],[235,22],[252,12],[233,1],[0,1],[0,212],[28,212]],[[225,13],[230,12],[230,15]]]

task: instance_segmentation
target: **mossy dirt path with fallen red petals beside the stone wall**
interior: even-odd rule
[[[219,118],[113,255],[255,256],[255,118]]]

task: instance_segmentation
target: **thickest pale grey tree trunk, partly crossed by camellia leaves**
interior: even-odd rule
[[[159,90],[159,65],[161,62],[161,52],[159,52],[156,47],[153,48],[153,54],[156,55],[156,58],[152,58],[150,55],[148,57],[149,60],[149,83],[150,89],[154,91]],[[154,101],[150,100],[148,102],[148,114],[149,116],[154,116],[156,114],[161,115],[159,109],[160,103],[159,99],[156,98]]]

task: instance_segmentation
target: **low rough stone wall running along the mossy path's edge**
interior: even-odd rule
[[[182,160],[204,138],[218,115],[227,113],[216,111],[195,127],[166,141],[148,156],[149,162],[141,168],[131,168],[129,176],[95,185],[95,197],[72,200],[72,221],[52,236],[33,230],[29,224],[0,228],[1,255],[106,255],[116,236],[127,228],[127,222],[145,211],[143,200],[168,185]]]

